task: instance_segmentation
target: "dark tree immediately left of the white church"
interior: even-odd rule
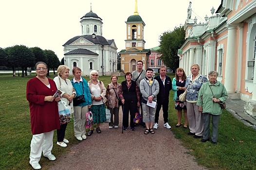
[[[54,74],[55,74],[55,68],[58,68],[60,65],[59,59],[54,51],[52,50],[44,50],[46,57],[47,57],[47,65],[48,65],[48,76],[50,74],[49,70],[50,68],[53,68]]]

